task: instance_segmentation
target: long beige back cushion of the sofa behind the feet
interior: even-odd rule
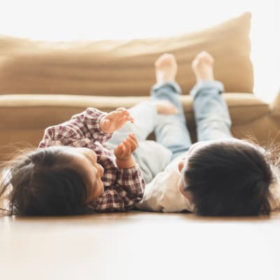
[[[43,42],[0,36],[0,94],[148,95],[153,62],[172,52],[178,82],[188,94],[195,83],[191,61],[202,50],[216,59],[215,76],[228,92],[252,92],[251,14],[216,27],[169,38],[132,41]]]

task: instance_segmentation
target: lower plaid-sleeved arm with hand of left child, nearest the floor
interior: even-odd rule
[[[141,200],[145,183],[132,155],[137,146],[137,138],[130,134],[116,147],[117,185],[106,188],[102,196],[90,204],[90,208],[96,211],[125,211]]]

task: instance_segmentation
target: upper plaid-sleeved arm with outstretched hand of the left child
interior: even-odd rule
[[[40,148],[48,146],[77,146],[94,148],[94,142],[101,144],[111,139],[113,132],[133,118],[125,109],[104,113],[98,109],[88,108],[60,125],[45,130]]]

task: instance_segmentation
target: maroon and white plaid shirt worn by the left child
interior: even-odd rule
[[[73,146],[91,148],[104,167],[104,193],[88,207],[92,211],[125,211],[134,207],[144,194],[145,183],[139,166],[118,168],[113,150],[106,144],[112,134],[103,132],[99,122],[106,113],[88,108],[60,125],[45,129],[39,148]]]

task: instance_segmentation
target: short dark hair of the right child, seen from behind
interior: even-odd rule
[[[268,215],[273,180],[272,169],[257,146],[213,142],[190,156],[183,189],[202,216]]]

